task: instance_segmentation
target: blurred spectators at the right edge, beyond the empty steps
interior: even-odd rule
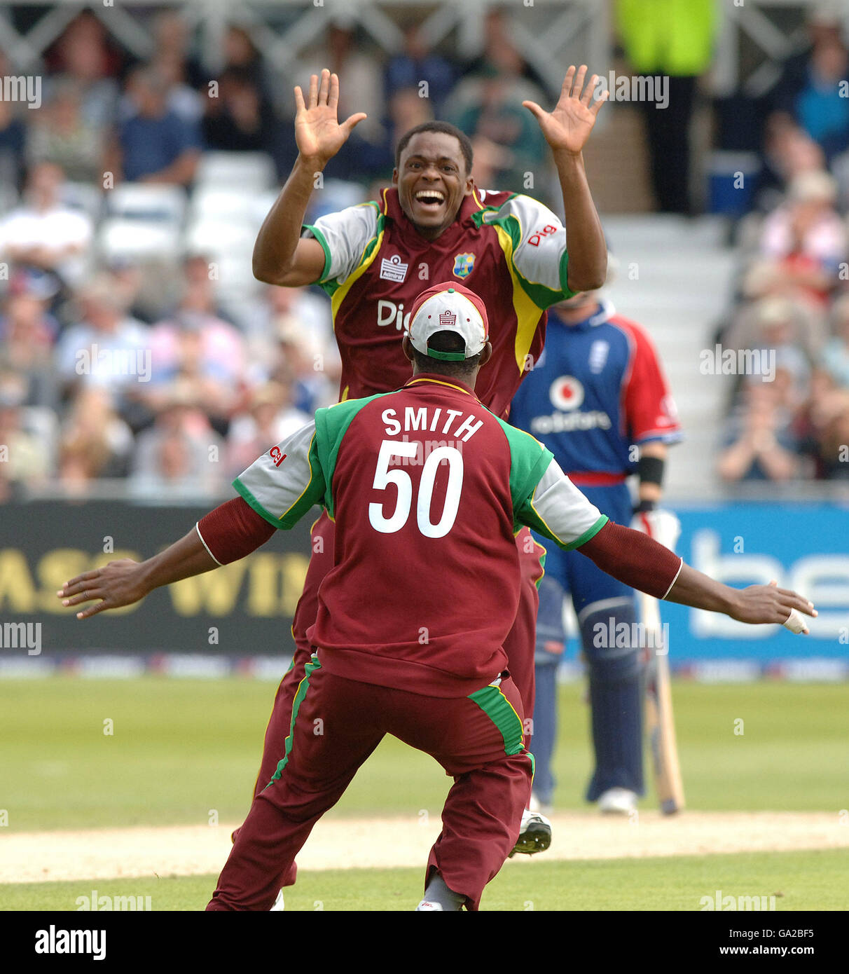
[[[813,12],[808,38],[764,100],[755,209],[718,335],[765,366],[738,376],[726,481],[849,477],[849,48],[833,8]]]

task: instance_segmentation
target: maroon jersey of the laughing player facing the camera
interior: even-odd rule
[[[342,356],[340,399],[404,384],[401,338],[418,295],[435,281],[461,281],[487,304],[493,357],[475,392],[498,416],[545,341],[545,310],[572,295],[560,220],[531,197],[475,189],[457,219],[428,241],[405,216],[398,193],[328,213],[304,227],[324,249],[316,281],[330,296]]]

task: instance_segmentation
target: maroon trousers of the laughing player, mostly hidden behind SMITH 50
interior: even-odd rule
[[[333,548],[335,540],[335,525],[327,516],[326,511],[314,523],[312,529],[313,555],[307,569],[304,581],[304,591],[295,609],[292,622],[292,636],[295,640],[295,656],[292,665],[277,688],[272,716],[266,728],[265,743],[263,745],[262,764],[254,784],[254,796],[258,796],[271,781],[283,757],[284,743],[289,732],[292,719],[292,702],[304,676],[304,667],[310,661],[313,647],[307,639],[307,630],[313,625],[318,615],[318,586],[324,576],[333,568]],[[534,713],[534,654],[536,635],[536,610],[539,605],[539,593],[536,582],[542,569],[539,557],[544,548],[535,543],[531,532],[523,528],[516,537],[519,549],[519,566],[522,572],[522,588],[519,595],[519,608],[513,628],[504,640],[504,652],[510,667],[510,676],[519,692],[524,713],[528,715],[525,726],[526,747],[530,747],[533,734],[531,717]],[[239,829],[233,833],[233,841],[239,836]],[[298,867],[293,863],[280,877],[280,886],[291,886],[296,879]]]

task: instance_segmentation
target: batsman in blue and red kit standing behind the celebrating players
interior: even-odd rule
[[[677,518],[655,506],[667,444],[681,438],[675,404],[646,331],[617,315],[609,300],[587,291],[552,309],[545,351],[514,397],[510,421],[538,436],[572,483],[621,523],[632,519],[626,479],[636,472],[633,526],[668,543],[658,532]],[[586,558],[542,543],[547,554],[536,621],[535,798],[550,805],[555,785],[556,673],[569,592],[589,670],[596,767],[586,798],[603,812],[627,813],[644,793],[643,649],[621,636],[639,631],[634,592]],[[611,632],[620,634],[615,645],[604,638]]]

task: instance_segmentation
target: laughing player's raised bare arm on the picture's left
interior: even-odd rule
[[[295,141],[298,158],[275,205],[269,210],[253,247],[253,276],[258,281],[299,287],[312,284],[324,269],[324,250],[316,240],[301,237],[301,225],[313,194],[315,176],[348,140],[366,116],[351,115],[339,124],[339,78],[326,68],[321,80],[310,79],[308,103],[295,89]]]

